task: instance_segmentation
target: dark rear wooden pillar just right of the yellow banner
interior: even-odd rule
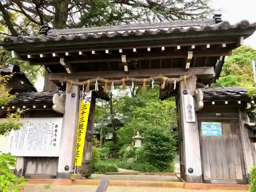
[[[86,177],[92,175],[92,151],[93,151],[93,134],[94,134],[94,114],[96,105],[96,93],[92,92],[91,106],[89,119],[86,130],[86,141],[83,147],[82,166],[77,167],[78,172],[81,176]]]

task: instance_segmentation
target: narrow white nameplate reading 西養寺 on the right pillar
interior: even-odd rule
[[[196,122],[194,98],[192,95],[184,95],[184,108],[186,122]]]

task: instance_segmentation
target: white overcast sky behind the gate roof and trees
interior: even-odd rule
[[[250,23],[256,22],[256,1],[255,0],[212,0],[212,8],[222,9],[222,19],[228,20],[230,24],[236,24],[242,19],[249,20]],[[256,49],[256,32],[244,40],[244,45],[252,46]],[[38,77],[35,82],[37,91],[42,91],[44,86],[44,77]]]

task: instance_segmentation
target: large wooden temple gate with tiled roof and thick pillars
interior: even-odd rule
[[[176,96],[177,100],[181,178],[197,183],[226,180],[246,183],[253,163],[252,157],[245,155],[249,141],[241,134],[243,111],[236,108],[234,121],[232,115],[219,121],[216,114],[227,109],[215,108],[215,119],[223,124],[223,135],[201,136],[201,122],[215,119],[208,118],[210,114],[206,118],[209,109],[203,107],[202,91],[197,88],[215,82],[225,56],[241,46],[255,27],[247,20],[230,25],[220,15],[196,21],[82,29],[56,30],[45,26],[39,36],[6,37],[1,45],[12,52],[13,58],[44,65],[48,79],[58,87],[67,82],[57,178],[67,179],[74,173],[79,83],[93,90],[96,80],[99,86],[111,86],[112,82],[117,86],[131,84],[132,78],[135,84],[151,84],[152,77],[158,77],[155,83],[165,84],[160,98]],[[92,101],[91,113],[95,99]],[[82,175],[91,172],[92,135],[93,122],[86,135],[83,163],[78,168]],[[228,151],[223,147],[228,147]],[[229,159],[229,153],[234,159]],[[230,166],[221,166],[229,161]]]

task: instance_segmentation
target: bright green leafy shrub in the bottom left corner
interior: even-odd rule
[[[0,152],[1,153],[1,152]],[[18,185],[27,183],[28,180],[24,179],[24,177],[17,178],[12,170],[9,168],[15,167],[16,165],[16,157],[11,156],[10,153],[0,155],[0,191],[9,192],[19,191]]]

